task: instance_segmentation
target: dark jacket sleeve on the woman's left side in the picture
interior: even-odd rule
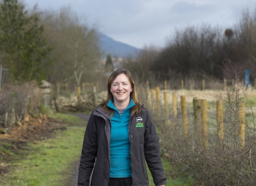
[[[97,116],[90,116],[86,126],[82,155],[78,170],[78,185],[89,186],[90,176],[95,163],[98,149]]]

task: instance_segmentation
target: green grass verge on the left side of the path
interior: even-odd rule
[[[81,155],[84,131],[73,126],[55,138],[29,143],[28,155],[10,163],[12,171],[0,185],[63,185],[70,165]]]

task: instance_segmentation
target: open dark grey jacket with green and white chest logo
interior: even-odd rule
[[[110,131],[109,115],[100,106],[92,112],[86,127],[78,172],[78,185],[89,186],[93,167],[91,185],[108,185],[110,170]],[[166,184],[155,125],[147,108],[142,106],[140,114],[130,116],[129,137],[132,185],[149,185],[145,159],[155,185]],[[96,157],[97,160],[95,163]]]

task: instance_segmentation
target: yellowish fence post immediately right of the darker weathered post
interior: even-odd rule
[[[207,149],[208,142],[207,142],[207,102],[206,102],[206,99],[201,100],[201,107],[202,107],[203,143],[204,143],[204,148]]]

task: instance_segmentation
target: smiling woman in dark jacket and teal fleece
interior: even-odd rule
[[[149,185],[145,159],[155,185],[164,185],[156,129],[148,109],[137,100],[131,73],[113,72],[107,91],[86,127],[78,185],[89,186],[92,171],[93,186]]]

